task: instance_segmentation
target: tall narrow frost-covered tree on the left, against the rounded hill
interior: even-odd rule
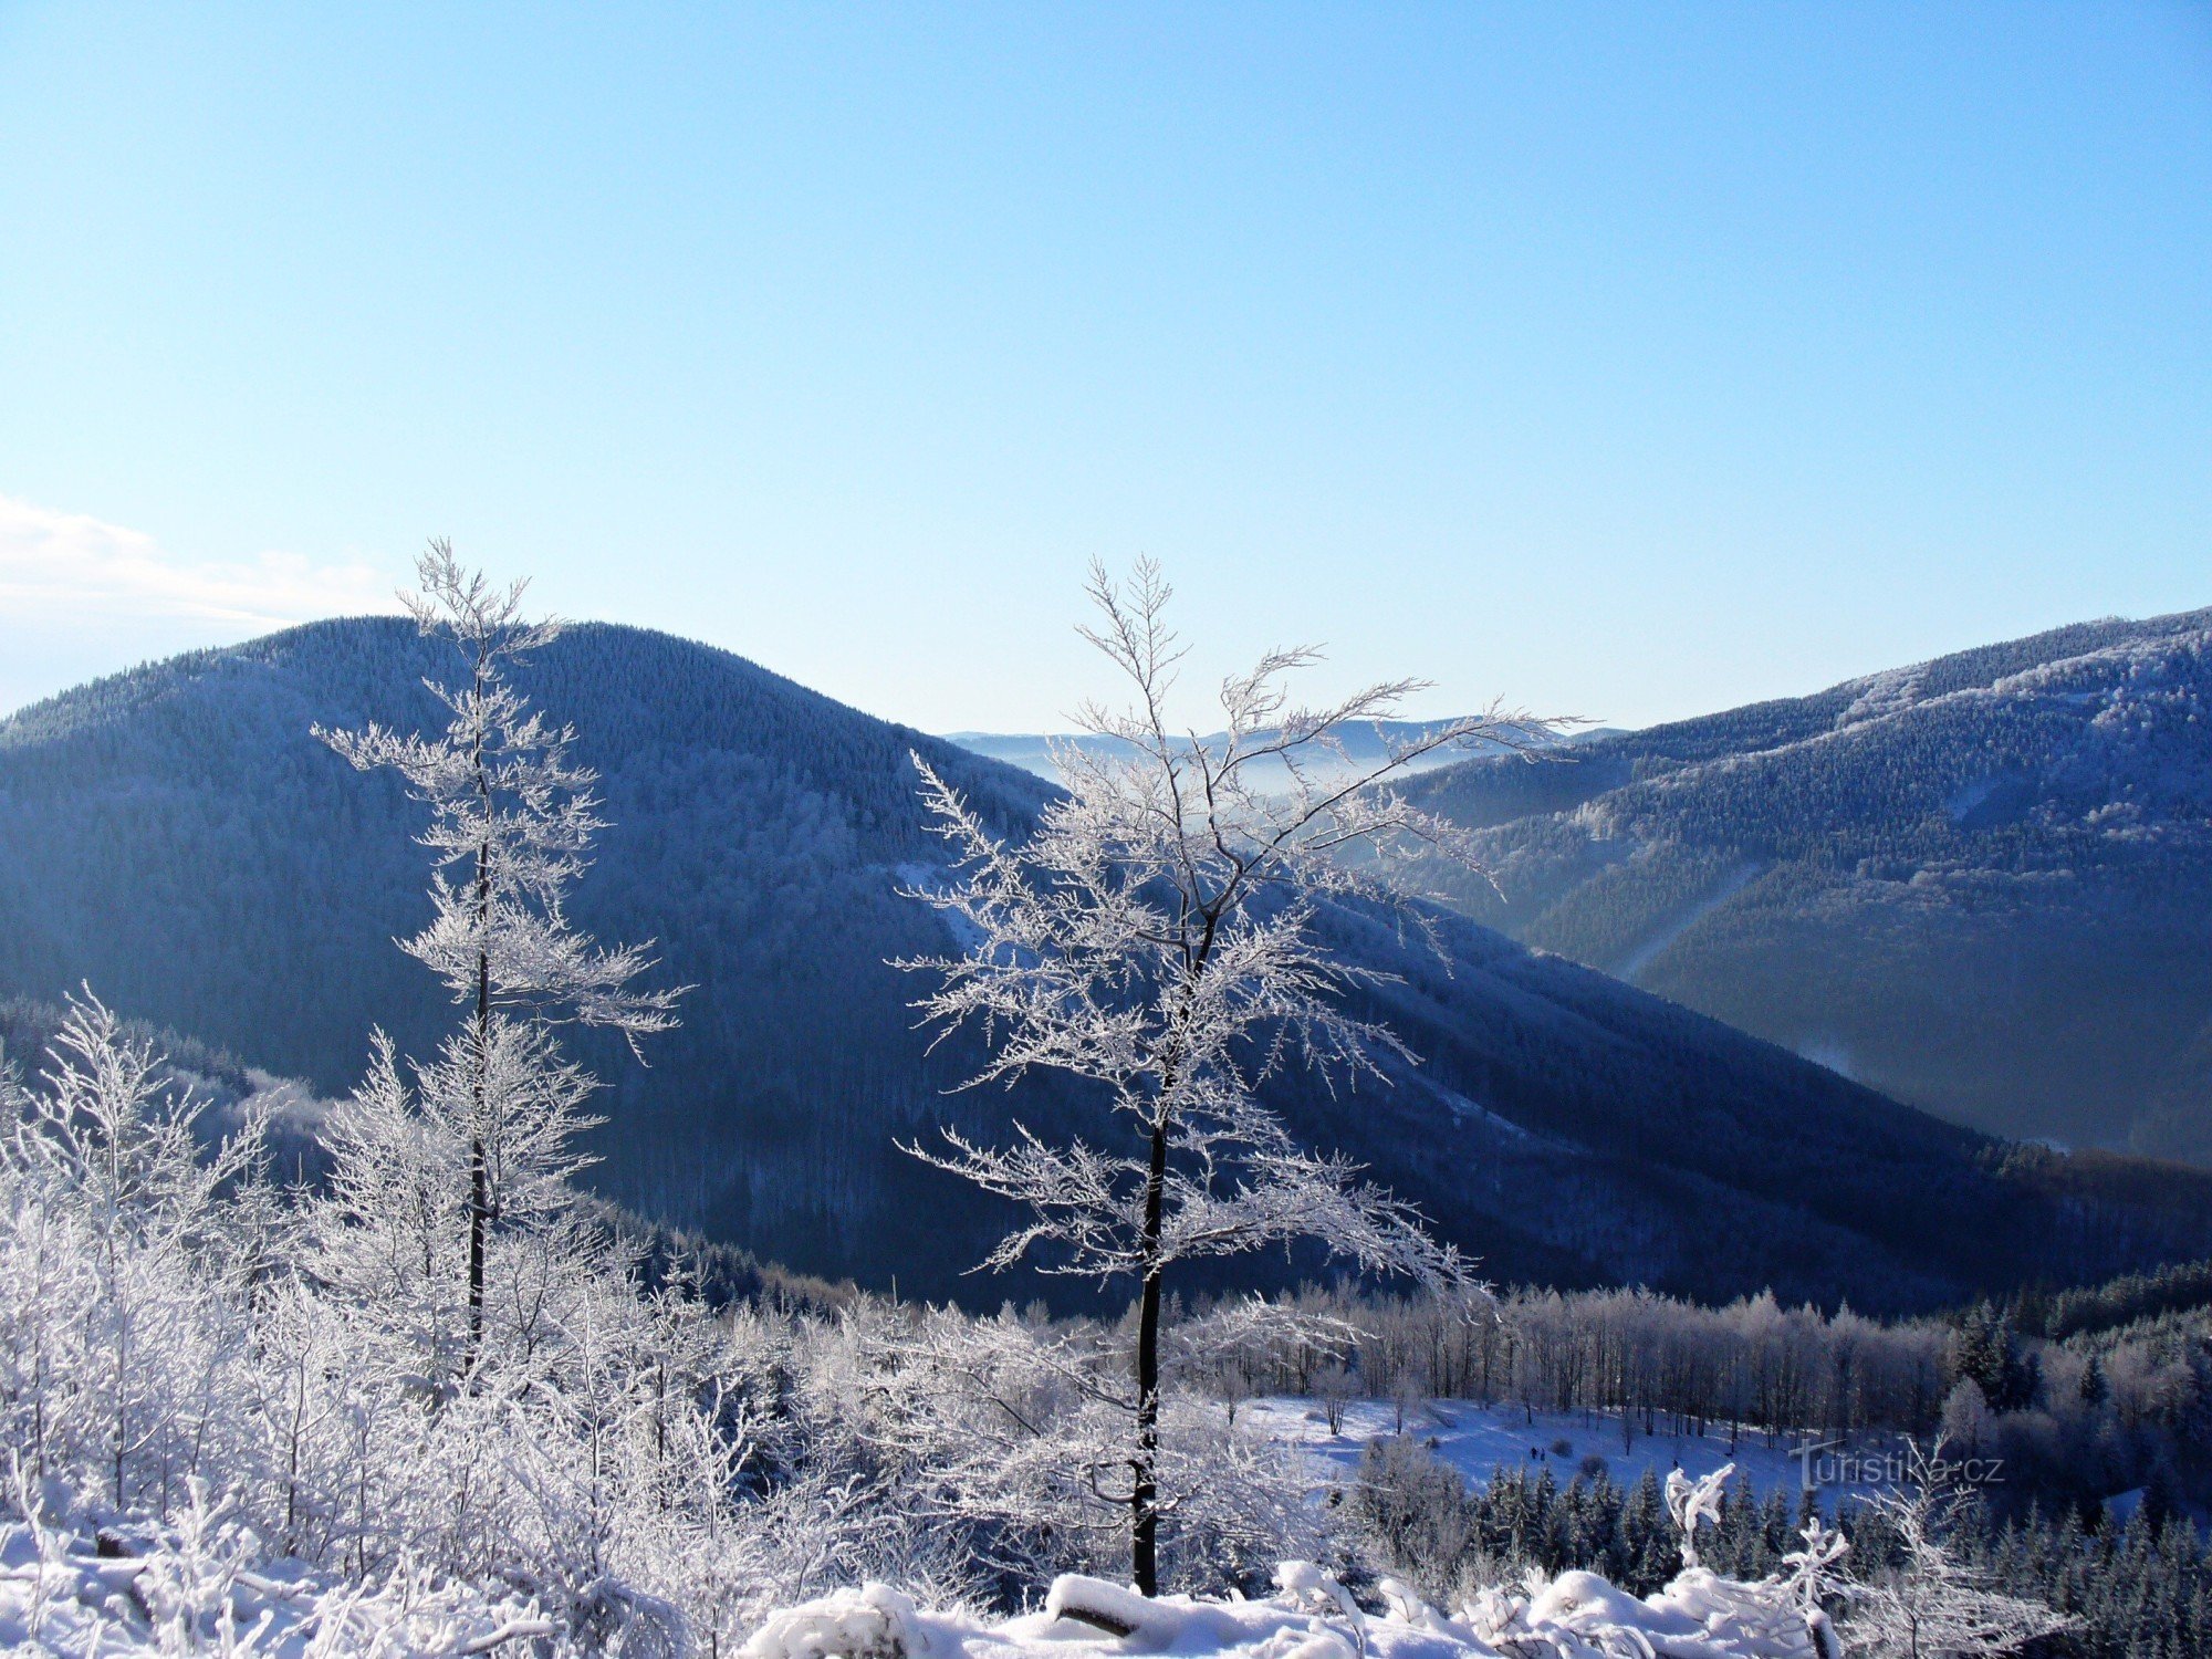
[[[445,706],[442,734],[398,734],[369,723],[358,732],[316,728],[361,770],[392,768],[431,812],[422,845],[431,852],[434,916],[409,956],[429,967],[469,1009],[462,1037],[442,1064],[460,1073],[451,1115],[467,1146],[467,1336],[473,1356],[484,1325],[484,1252],[500,1223],[500,1170],[518,1148],[544,1150],[564,1110],[515,1055],[529,1046],[522,1020],[577,1020],[635,1040],[675,1022],[677,991],[630,982],[653,964],[648,947],[604,949],[566,911],[571,883],[591,863],[604,821],[597,774],[571,759],[575,730],[551,726],[513,686],[513,670],[551,644],[557,622],[524,622],[522,582],[491,584],[467,571],[447,542],[431,542],[416,564],[422,591],[407,606],[425,635],[453,641],[462,677],[425,681]],[[544,1060],[540,1053],[538,1060]],[[577,1126],[573,1106],[562,1128]]]

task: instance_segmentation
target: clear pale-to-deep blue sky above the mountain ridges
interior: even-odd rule
[[[933,730],[2212,604],[2212,7],[0,2],[0,708],[427,535]]]

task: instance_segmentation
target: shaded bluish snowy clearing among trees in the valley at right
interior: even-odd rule
[[[1296,1396],[1250,1400],[1237,1409],[1239,1422],[1274,1440],[1298,1444],[1314,1455],[1345,1469],[1358,1467],[1360,1449],[1380,1436],[1398,1431],[1398,1407],[1389,1400],[1352,1400],[1345,1405],[1340,1433],[1329,1433],[1327,1418],[1318,1402]],[[1621,1420],[1610,1416],[1584,1416],[1582,1411],[1537,1411],[1533,1418],[1517,1405],[1482,1407],[1473,1400],[1436,1400],[1407,1413],[1405,1431],[1427,1444],[1438,1458],[1458,1469],[1471,1484],[1489,1484],[1491,1471],[1524,1467],[1531,1473],[1551,1469],[1553,1480],[1566,1486],[1582,1469],[1582,1460],[1597,1455],[1606,1460],[1606,1475],[1621,1486],[1635,1486],[1650,1469],[1666,1484],[1670,1469],[1681,1469],[1692,1480],[1710,1475],[1725,1462],[1736,1464],[1765,1498],[1776,1486],[1790,1493],[1803,1486],[1803,1462],[1794,1455],[1796,1440],[1767,1447],[1763,1436],[1743,1436],[1734,1449],[1728,1433],[1646,1436],[1632,1429],[1626,1449],[1621,1447]],[[1566,1451],[1555,1451],[1566,1442]],[[1882,1444],[1854,1444],[1860,1467],[1845,1467],[1836,1451],[1816,1455],[1814,1473],[1829,1480],[1816,1482],[1820,1509],[1834,1513],[1836,1500],[1845,1495],[1869,1498],[1880,1482],[1843,1480],[1843,1475],[1865,1475],[1880,1471],[1880,1458],[1889,1451]],[[1874,1464],[1867,1469],[1865,1464]]]

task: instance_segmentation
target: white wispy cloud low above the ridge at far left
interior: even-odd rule
[[[170,619],[243,635],[392,608],[392,580],[372,564],[181,560],[144,531],[0,495],[0,611],[13,622]]]

